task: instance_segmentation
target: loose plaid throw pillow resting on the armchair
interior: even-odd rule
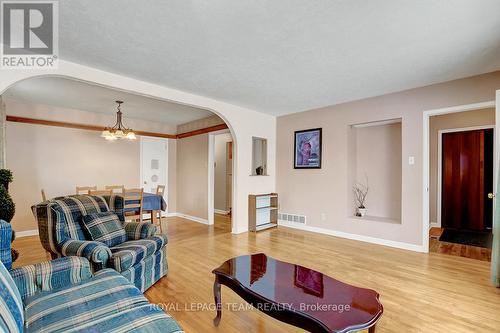
[[[93,241],[104,243],[109,247],[127,240],[125,229],[113,212],[84,215],[82,226]]]

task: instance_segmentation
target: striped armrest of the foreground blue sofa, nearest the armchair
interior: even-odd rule
[[[37,292],[58,289],[92,277],[89,261],[81,257],[44,261],[14,268],[10,273],[23,301]]]

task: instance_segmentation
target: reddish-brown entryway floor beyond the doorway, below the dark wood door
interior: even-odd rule
[[[456,243],[441,242],[439,237],[443,233],[443,228],[431,228],[429,230],[429,251],[443,253],[452,256],[471,258],[483,261],[491,261],[491,249],[484,247],[470,246]]]

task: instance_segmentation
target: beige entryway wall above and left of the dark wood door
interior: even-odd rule
[[[484,109],[467,112],[450,113],[430,117],[429,122],[429,219],[437,223],[437,190],[438,190],[438,132],[452,128],[495,125],[495,109]]]

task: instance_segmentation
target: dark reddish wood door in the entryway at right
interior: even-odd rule
[[[441,222],[445,228],[491,229],[493,129],[444,133]]]

